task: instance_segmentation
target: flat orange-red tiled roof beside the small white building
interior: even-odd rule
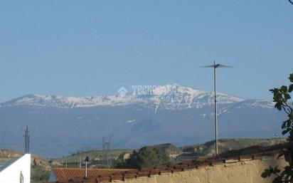
[[[118,172],[125,172],[129,169],[87,169],[88,177],[99,175],[110,175]],[[53,168],[53,173],[58,182],[68,181],[75,177],[85,177],[85,169],[82,168]]]

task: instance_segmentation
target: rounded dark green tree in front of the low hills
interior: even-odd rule
[[[154,167],[169,162],[169,156],[157,147],[142,147],[139,151],[134,150],[127,160],[118,160],[116,168]]]

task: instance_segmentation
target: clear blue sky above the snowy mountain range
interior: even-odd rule
[[[0,1],[0,102],[178,83],[270,99],[293,72],[287,0]]]

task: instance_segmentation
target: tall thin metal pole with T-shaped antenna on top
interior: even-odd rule
[[[201,68],[213,68],[213,88],[214,88],[214,115],[215,115],[215,155],[218,155],[218,113],[217,113],[217,94],[216,94],[216,69],[217,68],[233,68],[231,66],[225,66],[219,63],[213,62],[213,65],[210,66],[202,66]]]

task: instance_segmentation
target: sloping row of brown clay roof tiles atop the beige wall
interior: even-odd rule
[[[242,150],[232,150],[224,152],[216,157],[198,158],[181,162],[179,164],[162,165],[158,167],[149,167],[143,169],[132,169],[128,171],[114,172],[112,174],[104,174],[89,177],[76,177],[68,181],[56,183],[101,183],[112,182],[114,180],[124,181],[125,179],[136,179],[137,177],[151,177],[156,174],[164,174],[174,172],[183,172],[188,169],[199,169],[208,166],[214,166],[223,163],[243,162],[250,160],[262,160],[267,156],[277,155],[280,150],[287,148],[288,144],[272,145],[270,147],[247,147]],[[258,149],[258,150],[255,150]],[[253,150],[252,152],[250,150]]]

